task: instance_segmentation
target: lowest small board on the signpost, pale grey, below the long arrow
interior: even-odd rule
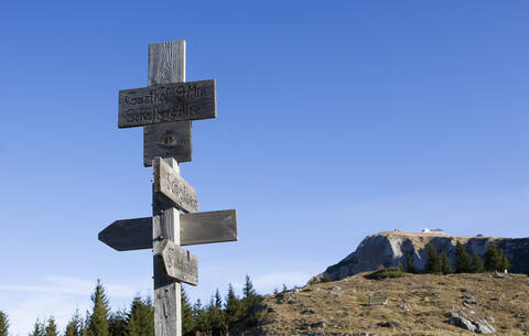
[[[198,258],[174,241],[164,239],[159,257],[165,275],[188,284],[198,284]]]

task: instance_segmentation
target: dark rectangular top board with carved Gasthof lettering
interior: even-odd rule
[[[119,91],[119,128],[209,119],[216,116],[215,79]]]

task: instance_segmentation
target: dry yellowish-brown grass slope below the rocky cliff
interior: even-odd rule
[[[498,335],[528,335],[529,278],[506,274],[407,274],[398,279],[368,280],[364,274],[342,281],[307,285],[299,292],[268,295],[259,332],[246,335],[471,335],[452,326],[446,314],[458,312],[471,318],[493,316]],[[339,286],[341,290],[332,290]],[[388,305],[368,306],[368,295],[387,293]],[[463,305],[464,296],[477,304]],[[307,314],[306,310],[314,312]],[[305,313],[303,313],[305,311]],[[379,323],[395,326],[381,327]],[[312,324],[324,323],[323,327]],[[528,332],[525,327],[527,326]],[[323,334],[322,334],[323,335]]]

